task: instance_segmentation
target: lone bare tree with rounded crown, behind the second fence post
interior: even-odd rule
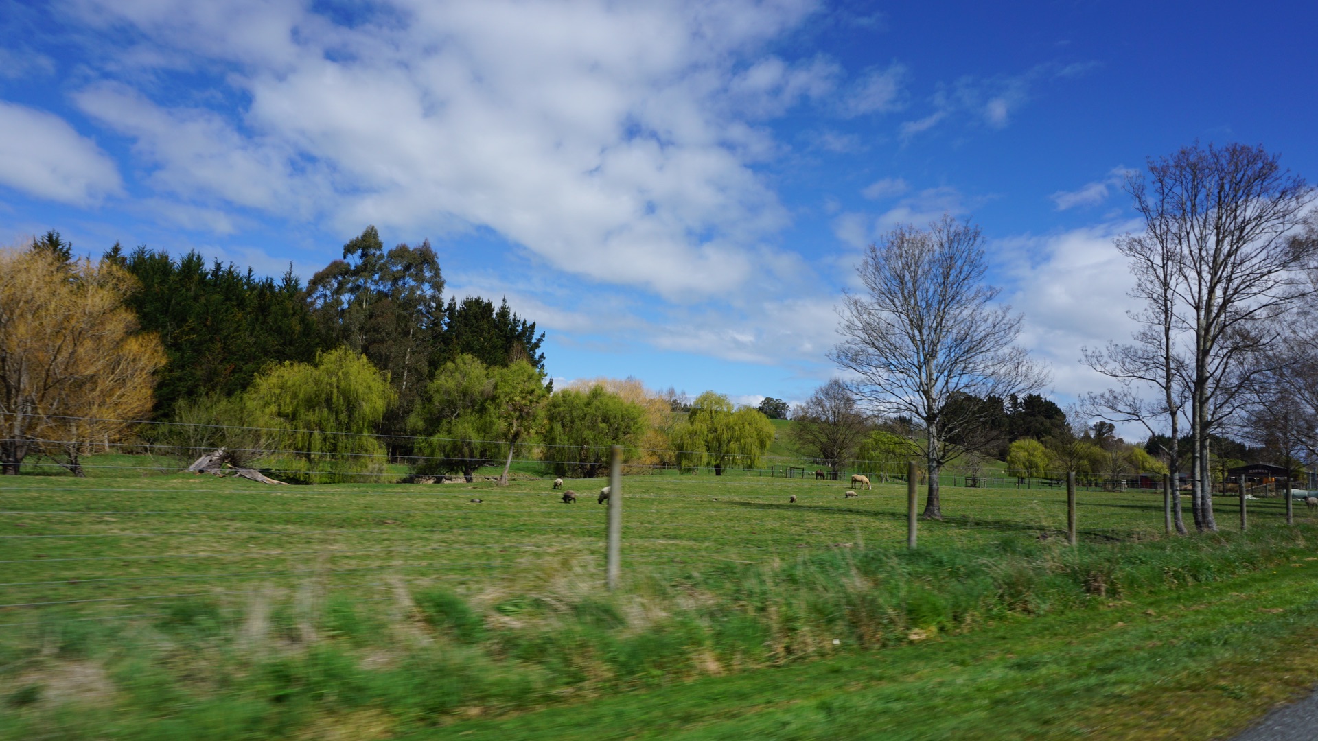
[[[898,227],[866,251],[857,266],[865,293],[846,294],[838,310],[845,340],[830,357],[855,374],[847,386],[875,413],[919,423],[925,518],[942,518],[942,465],[988,422],[991,405],[957,402],[1023,396],[1046,380],[1015,344],[1020,315],[994,305],[981,243],[978,227],[946,215],[928,229]]]

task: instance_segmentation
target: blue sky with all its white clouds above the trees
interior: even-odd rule
[[[1002,5],[1002,7],[990,7]],[[558,378],[803,400],[859,251],[983,228],[1066,402],[1124,339],[1122,173],[1318,177],[1302,3],[0,0],[0,241],[303,278],[376,224],[507,297]]]

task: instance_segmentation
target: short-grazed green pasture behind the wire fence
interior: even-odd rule
[[[137,610],[158,601],[150,597],[295,584],[311,574],[328,588],[360,592],[385,588],[386,574],[490,587],[543,568],[598,571],[606,508],[594,494],[605,483],[569,480],[580,500],[564,505],[546,480],[503,488],[269,487],[191,475],[0,480],[7,562],[0,604]],[[904,485],[879,484],[851,500],[844,489],[813,480],[627,477],[625,563],[654,578],[696,563],[760,563],[795,558],[803,548],[905,542]],[[962,547],[1065,531],[1060,488],[944,488],[942,498],[946,519],[921,523],[923,545]],[[1082,539],[1161,531],[1162,502],[1153,492],[1081,492],[1078,498]],[[1251,504],[1257,522],[1282,516],[1280,500]],[[1219,497],[1217,506],[1222,525],[1232,527],[1236,500]]]

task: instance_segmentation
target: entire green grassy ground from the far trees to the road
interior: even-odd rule
[[[904,484],[844,498],[841,483],[746,472],[626,476],[610,593],[604,479],[568,480],[564,504],[525,472],[278,487],[107,460],[87,479],[0,477],[0,737],[558,738],[577,721],[590,737],[862,738],[874,723],[920,737],[903,723],[931,687],[928,737],[979,737],[999,707],[1044,737],[1058,708],[1124,717],[1086,679],[1094,662],[1126,696],[1162,692],[1141,732],[1181,701],[1166,687],[1232,675],[1213,680],[1234,715],[1205,728],[1222,729],[1275,696],[1238,666],[1265,655],[1259,637],[1318,609],[1301,578],[1318,527],[1306,508],[1285,526],[1280,500],[1251,502],[1243,535],[1220,497],[1222,533],[1168,538],[1157,493],[1082,490],[1072,547],[1060,488],[945,488],[945,519],[921,521],[909,551]],[[1284,612],[1219,607],[1242,579]],[[1217,596],[1190,593],[1205,585]],[[1173,604],[1184,620],[1143,612]],[[1242,616],[1267,625],[1232,628]],[[1169,649],[1131,653],[1099,630],[1114,620],[1155,624],[1137,645]],[[1068,632],[1085,643],[1068,650]],[[1219,651],[1219,632],[1239,646]],[[784,682],[817,688],[797,704]]]

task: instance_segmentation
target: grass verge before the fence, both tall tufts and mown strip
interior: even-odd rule
[[[1019,535],[913,552],[836,547],[676,574],[638,570],[622,595],[564,563],[517,588],[461,595],[397,579],[389,599],[368,601],[308,579],[291,593],[198,597],[148,618],[47,610],[0,638],[0,684],[13,687],[0,736],[1119,730],[1156,692],[1194,695],[1205,682],[1220,684],[1211,676],[1240,674],[1251,657],[1313,636],[1309,572],[1318,562],[1304,559],[1314,534],[1301,526],[1078,548]],[[1252,712],[1265,695],[1259,687],[1214,688],[1217,704],[1198,715],[1219,712],[1223,697]],[[465,720],[477,716],[507,717]],[[1243,716],[1223,717],[1219,725]]]

